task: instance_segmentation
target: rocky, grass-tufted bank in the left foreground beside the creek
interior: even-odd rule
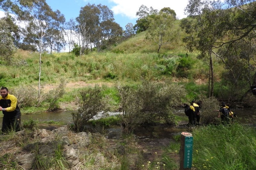
[[[25,129],[1,136],[0,168],[117,170],[126,161],[128,169],[138,169],[138,165],[156,160],[163,152],[161,148],[173,142],[170,138],[132,135],[123,139],[112,137],[111,133],[74,133],[67,126]],[[179,165],[177,152],[168,156]]]

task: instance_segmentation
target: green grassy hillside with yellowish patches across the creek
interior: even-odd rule
[[[176,20],[174,28],[180,29],[179,24],[180,20]],[[136,34],[99,53],[92,51],[82,56],[72,53],[42,54],[40,85],[43,98],[47,98],[47,92],[58,87],[61,80],[67,83],[66,93],[60,99],[64,102],[74,102],[79,89],[88,85],[106,85],[112,88],[110,93],[116,95],[116,84],[133,85],[142,79],[184,84],[188,90],[188,101],[207,91],[207,63],[198,60],[196,53],[187,53],[182,42],[184,32],[180,31],[177,40],[163,45],[159,54],[156,53],[158,45],[145,41],[145,34]],[[0,61],[0,85],[14,92],[24,89],[29,93],[26,95],[37,96],[39,54],[17,50],[9,63]],[[214,64],[218,80],[223,69],[220,63]],[[117,102],[114,101],[118,106]]]

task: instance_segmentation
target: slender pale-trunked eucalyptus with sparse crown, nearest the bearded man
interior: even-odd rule
[[[52,11],[51,7],[45,0],[38,0],[32,5],[24,5],[20,7],[23,15],[19,16],[19,20],[25,23],[22,34],[31,39],[39,51],[39,79],[38,79],[38,106],[40,104],[40,79],[41,79],[41,57],[42,57],[42,41],[44,36],[50,34],[53,30],[58,30],[60,25],[65,22],[64,15],[59,10]]]

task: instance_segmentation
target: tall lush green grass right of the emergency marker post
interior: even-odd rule
[[[238,123],[193,130],[194,166],[206,170],[255,169],[255,134],[255,128]]]

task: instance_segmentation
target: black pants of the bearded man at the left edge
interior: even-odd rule
[[[6,133],[11,130],[14,130],[16,132],[20,131],[20,113],[16,115],[4,115],[2,132]]]

